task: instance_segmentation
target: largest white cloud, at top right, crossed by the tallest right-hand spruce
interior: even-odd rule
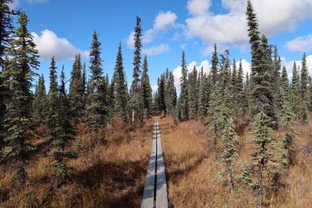
[[[209,10],[211,0],[190,0],[190,17],[186,19],[187,37],[200,37],[204,44],[241,44],[248,41],[245,0],[222,0],[227,10],[214,14]],[[253,0],[261,32],[275,35],[280,31],[293,31],[298,21],[311,18],[312,1]]]

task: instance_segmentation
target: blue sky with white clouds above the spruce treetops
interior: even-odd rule
[[[103,72],[112,76],[117,46],[123,46],[123,64],[128,83],[132,81],[132,37],[136,15],[144,31],[143,51],[148,55],[150,83],[166,68],[174,71],[176,85],[180,76],[182,50],[189,69],[193,65],[209,71],[211,47],[216,42],[220,53],[230,49],[232,58],[243,59],[248,71],[250,46],[246,32],[245,0],[19,0],[17,8],[27,12],[29,31],[33,33],[49,83],[49,62],[55,55],[58,71],[65,66],[70,76],[72,58],[81,53],[89,64],[88,51],[92,31],[99,33]],[[270,44],[277,44],[283,64],[291,72],[293,61],[308,56],[312,73],[312,1],[254,0],[261,32]],[[143,56],[143,55],[142,55]]]

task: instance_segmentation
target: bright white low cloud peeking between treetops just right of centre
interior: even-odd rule
[[[210,69],[210,64],[208,60],[203,60],[202,62],[200,62],[200,64],[198,65],[198,63],[196,61],[192,61],[189,63],[189,65],[187,65],[187,70],[193,71],[194,66],[196,66],[196,69],[200,70],[202,67],[204,69],[204,71],[206,73],[209,73],[209,69]],[[175,88],[176,89],[180,89],[180,78],[182,77],[182,68],[181,66],[177,66],[175,67],[175,69],[173,69],[173,76],[175,78]]]

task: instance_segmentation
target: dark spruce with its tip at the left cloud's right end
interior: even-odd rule
[[[80,54],[75,56],[73,68],[71,70],[71,79],[69,83],[69,100],[71,103],[71,118],[73,122],[78,123],[83,120],[83,65],[81,64]]]

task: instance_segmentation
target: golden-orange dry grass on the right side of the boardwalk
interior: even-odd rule
[[[295,129],[299,132],[295,138],[295,162],[289,169],[286,186],[267,198],[268,207],[312,206],[312,157],[300,150],[311,129],[300,125],[295,125]],[[183,122],[175,127],[173,120],[166,118],[160,121],[160,131],[171,207],[255,207],[248,189],[236,186],[230,194],[226,186],[216,182],[221,166],[205,134],[207,127],[198,121]],[[245,143],[251,131],[248,126],[239,139],[243,147],[236,173],[241,171],[242,160],[250,160],[250,147]]]

